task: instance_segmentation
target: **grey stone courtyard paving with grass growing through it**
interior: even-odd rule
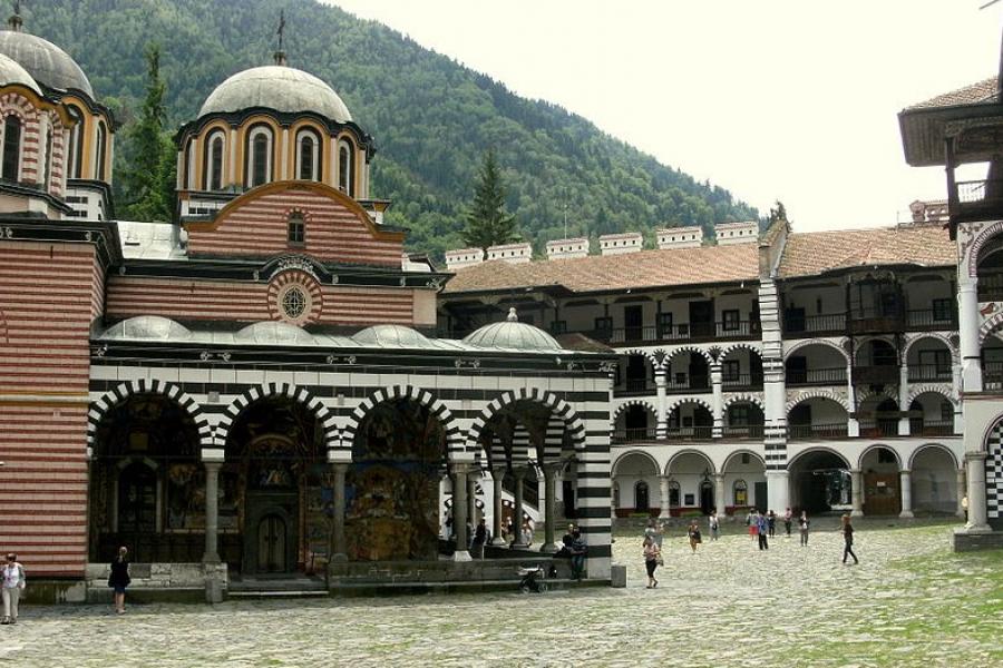
[[[240,601],[216,607],[26,607],[0,627],[19,668],[117,666],[1003,666],[1003,552],[954,554],[948,525],[835,524],[810,546],[754,549],[744,527],[690,553],[665,540],[658,589],[621,534],[626,589]],[[822,524],[818,522],[818,524]],[[741,529],[741,530],[740,530]]]

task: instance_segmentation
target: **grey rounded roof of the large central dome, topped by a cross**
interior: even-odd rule
[[[210,94],[198,116],[264,107],[285,114],[312,111],[337,122],[352,119],[334,89],[308,72],[270,65],[237,72]]]

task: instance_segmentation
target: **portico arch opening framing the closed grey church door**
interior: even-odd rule
[[[333,480],[323,429],[285,396],[250,404],[234,421],[220,471],[220,556],[231,572],[322,570]]]

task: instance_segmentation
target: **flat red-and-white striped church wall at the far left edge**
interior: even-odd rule
[[[0,549],[35,576],[87,561],[89,327],[94,247],[0,244]]]

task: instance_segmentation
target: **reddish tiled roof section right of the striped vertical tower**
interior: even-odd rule
[[[780,261],[780,277],[875,265],[952,266],[956,254],[954,242],[939,225],[791,234]]]

